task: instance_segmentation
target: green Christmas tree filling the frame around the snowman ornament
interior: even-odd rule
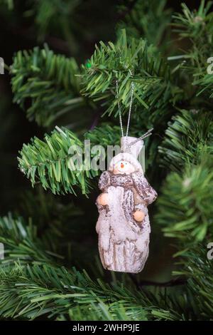
[[[0,1],[2,320],[212,319],[213,6],[197,2]],[[140,274],[102,268],[100,171],[67,168],[71,145],[119,144],[131,83],[158,192]]]

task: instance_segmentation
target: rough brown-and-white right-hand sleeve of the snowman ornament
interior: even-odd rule
[[[138,195],[146,201],[147,205],[150,205],[158,197],[157,192],[151,187],[146,178],[140,173],[133,173],[133,183],[136,187]]]

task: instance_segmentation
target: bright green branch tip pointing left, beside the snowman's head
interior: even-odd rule
[[[31,144],[23,145],[18,158],[19,168],[31,180],[32,185],[39,181],[45,190],[53,194],[75,194],[80,188],[83,194],[89,192],[90,180],[98,174],[94,170],[86,170],[85,165],[77,160],[76,169],[70,167],[72,155],[69,149],[77,145],[83,149],[83,143],[70,130],[53,130],[45,135],[45,140],[33,138]],[[77,151],[77,153],[80,153]]]

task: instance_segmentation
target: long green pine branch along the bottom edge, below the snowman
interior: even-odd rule
[[[0,269],[1,316],[35,319],[46,315],[80,319],[182,319],[168,307],[165,294],[155,297],[151,292],[129,291],[122,284],[111,287],[97,279],[92,281],[86,272],[51,267],[49,264],[21,266],[9,271]],[[159,299],[159,300],[158,300]],[[160,301],[162,299],[162,301]],[[164,306],[160,308],[158,305]],[[13,306],[16,304],[16,309]],[[77,315],[75,312],[78,311]]]

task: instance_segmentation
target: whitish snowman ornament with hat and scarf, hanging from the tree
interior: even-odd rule
[[[157,197],[137,160],[143,140],[124,136],[121,153],[102,173],[97,197],[99,255],[104,269],[138,273],[148,258],[148,205]]]

